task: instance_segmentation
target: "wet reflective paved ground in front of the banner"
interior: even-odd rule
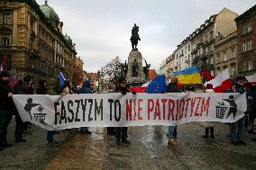
[[[202,123],[178,126],[178,145],[167,145],[167,127],[130,127],[131,145],[116,146],[104,128],[92,135],[61,130],[50,147],[46,130],[32,127],[26,143],[14,143],[14,121],[8,140],[13,148],[0,152],[0,169],[256,169],[256,142],[246,135],[247,146],[233,146],[229,126],[215,123],[215,139],[203,139]]]

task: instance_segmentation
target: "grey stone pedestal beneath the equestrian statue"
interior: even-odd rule
[[[134,59],[136,59],[138,63],[138,68],[137,68],[138,75],[135,77],[133,76]],[[143,73],[143,67],[142,67],[142,53],[138,50],[132,50],[129,54],[126,81],[131,86],[142,85],[145,81],[145,75]]]

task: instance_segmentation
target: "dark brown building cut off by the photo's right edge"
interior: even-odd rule
[[[256,73],[256,5],[235,19],[237,25],[238,73]]]

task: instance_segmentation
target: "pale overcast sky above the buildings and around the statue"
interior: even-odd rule
[[[44,0],[37,0],[44,4]],[[177,45],[224,7],[242,14],[255,0],[49,0],[64,22],[84,70],[96,72],[112,58],[124,62],[131,51],[133,24],[140,27],[138,49],[156,70]]]

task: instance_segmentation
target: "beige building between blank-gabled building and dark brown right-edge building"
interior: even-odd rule
[[[228,68],[231,77],[237,75],[237,32],[215,41],[215,76]]]

